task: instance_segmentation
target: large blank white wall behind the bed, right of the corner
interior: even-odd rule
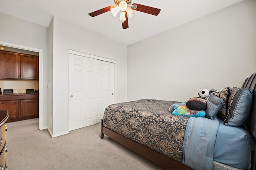
[[[128,101],[183,101],[204,88],[241,87],[256,71],[255,9],[245,0],[129,45]]]

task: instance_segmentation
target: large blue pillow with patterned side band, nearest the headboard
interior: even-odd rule
[[[252,105],[252,90],[234,87],[228,99],[227,117],[224,125],[240,127],[249,117]]]

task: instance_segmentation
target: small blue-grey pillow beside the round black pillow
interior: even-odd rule
[[[207,100],[207,107],[205,110],[205,117],[214,120],[220,107],[222,106],[223,99],[220,99],[214,94],[211,94]]]

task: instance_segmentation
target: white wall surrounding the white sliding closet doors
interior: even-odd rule
[[[69,49],[116,61],[116,102],[127,101],[127,46],[54,16],[53,20],[53,131],[68,133]],[[51,95],[51,94],[49,94]]]

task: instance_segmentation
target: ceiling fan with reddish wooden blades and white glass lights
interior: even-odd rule
[[[108,11],[111,11],[113,16],[116,16],[118,13],[120,13],[119,20],[122,22],[123,29],[126,29],[129,28],[127,14],[131,18],[134,14],[134,10],[155,16],[157,16],[160,12],[160,9],[158,8],[153,8],[140,4],[132,4],[132,0],[114,0],[114,3],[116,4],[116,6],[108,6],[106,8],[91,12],[89,15],[94,17]]]

